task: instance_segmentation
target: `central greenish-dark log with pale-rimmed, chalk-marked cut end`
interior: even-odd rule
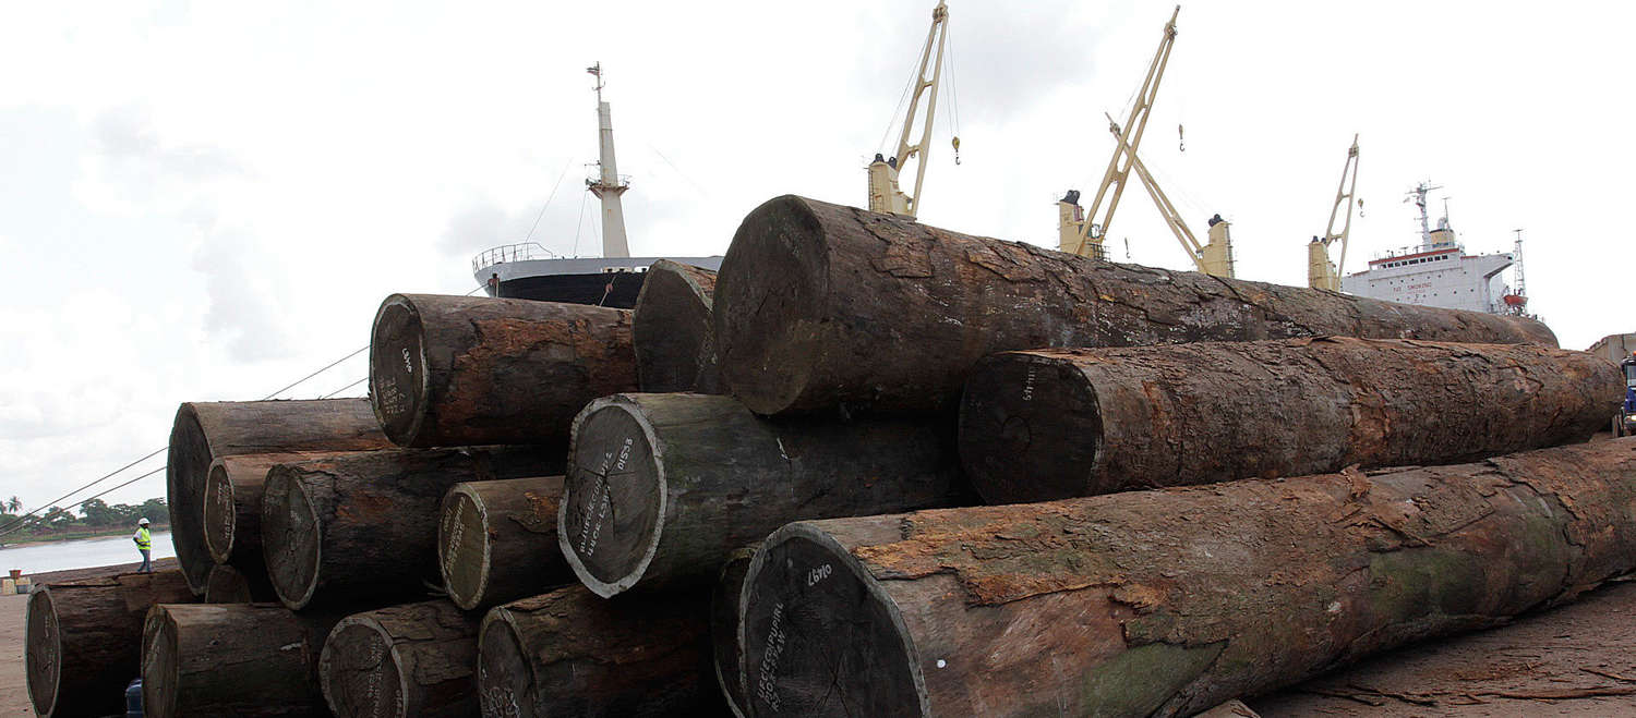
[[[951,433],[941,420],[761,419],[726,396],[597,399],[574,419],[563,556],[609,597],[715,581],[733,550],[792,520],[960,505]]]

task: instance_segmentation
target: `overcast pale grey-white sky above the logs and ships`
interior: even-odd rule
[[[596,252],[596,61],[635,254],[721,254],[784,193],[862,204],[933,5],[5,3],[0,499],[34,507],[162,447],[182,401],[258,399],[366,345],[381,298],[466,293],[483,249]],[[951,0],[921,221],[1054,245],[1054,201],[1094,191],[1103,113],[1170,10]],[[1633,20],[1611,2],[1189,3],[1142,155],[1198,234],[1234,221],[1240,278],[1304,285],[1360,132],[1348,271],[1417,242],[1402,200],[1432,180],[1467,250],[1525,231],[1533,309],[1584,348],[1636,329],[1615,309]],[[1114,258],[1189,268],[1140,188],[1111,236]],[[358,357],[281,396],[365,373]]]

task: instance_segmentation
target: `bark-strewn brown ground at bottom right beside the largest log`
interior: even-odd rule
[[[1263,718],[1636,715],[1636,582],[1245,703]]]

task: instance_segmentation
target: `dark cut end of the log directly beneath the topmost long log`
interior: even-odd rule
[[[1186,420],[1217,420],[1188,417]],[[960,460],[988,504],[1103,494],[1086,486],[1103,448],[1096,391],[1068,361],[1000,355],[978,363],[960,401]]]

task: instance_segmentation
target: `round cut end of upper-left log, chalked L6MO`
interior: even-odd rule
[[[430,393],[425,330],[414,303],[393,294],[381,303],[370,339],[370,406],[393,443],[412,447],[425,422]]]

